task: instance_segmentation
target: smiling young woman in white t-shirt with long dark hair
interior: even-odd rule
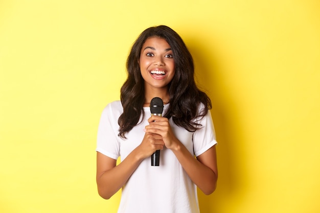
[[[171,28],[151,27],[134,42],[127,72],[121,102],[106,106],[98,129],[99,195],[122,188],[119,213],[199,212],[197,187],[207,195],[216,188],[217,142],[191,54]],[[163,117],[150,117],[154,97],[164,102]],[[156,150],[160,165],[152,167]]]

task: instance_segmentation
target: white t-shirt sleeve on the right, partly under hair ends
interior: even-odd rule
[[[193,151],[196,157],[217,144],[210,110],[197,123],[202,126],[193,133]]]

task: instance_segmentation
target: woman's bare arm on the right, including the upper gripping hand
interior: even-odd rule
[[[166,117],[151,116],[148,121],[150,125],[146,127],[146,132],[161,135],[165,146],[172,150],[191,180],[204,194],[213,193],[218,178],[215,146],[199,155],[196,159],[175,137]]]

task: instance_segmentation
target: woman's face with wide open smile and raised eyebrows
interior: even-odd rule
[[[148,38],[142,46],[140,72],[145,89],[167,88],[175,74],[172,50],[163,38]]]

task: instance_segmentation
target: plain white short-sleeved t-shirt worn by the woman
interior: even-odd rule
[[[169,104],[164,106],[163,114],[168,110],[168,106]],[[126,134],[127,139],[118,136],[118,119],[122,112],[120,101],[112,102],[104,108],[96,149],[113,159],[120,156],[121,161],[141,144],[145,134],[143,129],[148,125],[150,108],[144,107],[145,120]],[[169,122],[175,136],[195,156],[201,155],[217,143],[210,111],[199,121],[202,128],[195,132],[188,132],[175,125],[172,119],[169,119]],[[161,150],[158,167],[151,166],[151,157],[144,159],[122,187],[118,213],[197,212],[197,187],[170,149]]]

